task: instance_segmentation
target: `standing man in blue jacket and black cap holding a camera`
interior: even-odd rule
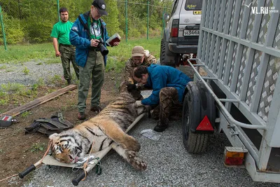
[[[101,19],[102,15],[108,15],[104,0],[94,0],[90,11],[78,16],[70,32],[70,42],[76,46],[76,63],[80,71],[78,85],[78,119],[80,120],[85,120],[85,102],[90,80],[92,80],[90,111],[99,113],[102,110],[99,104],[108,54],[105,41],[109,39],[106,23]],[[113,46],[118,44],[115,42]]]

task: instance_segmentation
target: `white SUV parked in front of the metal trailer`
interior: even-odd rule
[[[175,0],[161,41],[160,64],[179,66],[196,57],[202,0]]]

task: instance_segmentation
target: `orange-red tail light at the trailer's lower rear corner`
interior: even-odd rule
[[[243,165],[245,153],[247,149],[243,147],[225,147],[225,165]]]

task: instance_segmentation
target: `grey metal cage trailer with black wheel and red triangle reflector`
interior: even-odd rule
[[[279,11],[278,0],[204,0],[182,120],[189,152],[204,151],[215,127],[244,153],[253,181],[274,183],[280,183]]]

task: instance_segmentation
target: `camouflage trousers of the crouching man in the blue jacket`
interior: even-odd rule
[[[176,88],[162,88],[160,90],[160,104],[153,109],[152,118],[159,118],[161,123],[168,125],[169,118],[181,118],[182,106],[179,102],[178,90]]]

